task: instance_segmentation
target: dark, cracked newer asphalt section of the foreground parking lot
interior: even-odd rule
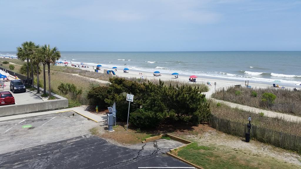
[[[161,151],[161,148],[164,149],[161,145],[165,146],[166,141],[157,140],[136,145],[140,149],[130,149],[86,135],[1,154],[0,168],[191,167],[165,155]]]

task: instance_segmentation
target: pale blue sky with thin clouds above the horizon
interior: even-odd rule
[[[0,51],[300,51],[301,0],[0,0]]]

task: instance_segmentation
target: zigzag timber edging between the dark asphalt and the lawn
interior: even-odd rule
[[[184,162],[184,163],[186,163],[186,164],[189,164],[189,165],[191,165],[191,166],[193,166],[193,167],[195,167],[195,168],[197,168],[197,169],[204,169],[203,167],[200,167],[200,166],[198,166],[198,165],[196,165],[196,164],[193,164],[193,163],[191,163],[191,162],[189,162],[189,161],[187,161],[187,160],[185,160],[185,159],[183,159],[183,158],[181,158],[181,157],[178,157],[178,156],[173,155],[172,153],[170,153],[170,152],[171,152],[172,150],[174,150],[174,149],[178,149],[178,148],[187,146],[188,144],[191,144],[191,143],[192,143],[191,141],[182,139],[182,138],[180,138],[180,137],[175,137],[175,136],[173,136],[173,135],[171,135],[171,134],[160,134],[160,135],[158,135],[158,136],[148,137],[148,138],[144,139],[144,141],[142,141],[142,143],[147,143],[147,142],[151,142],[151,141],[154,141],[154,140],[158,140],[158,139],[162,138],[163,136],[170,137],[172,140],[176,140],[176,141],[178,141],[178,142],[181,142],[181,143],[184,143],[184,144],[185,144],[185,145],[183,145],[183,146],[179,146],[179,147],[170,149],[169,152],[166,153],[167,155],[169,155],[169,156],[171,156],[171,157],[173,157],[173,158],[175,158],[175,159],[178,159],[178,160],[180,160],[180,161],[182,161],[182,162]]]

